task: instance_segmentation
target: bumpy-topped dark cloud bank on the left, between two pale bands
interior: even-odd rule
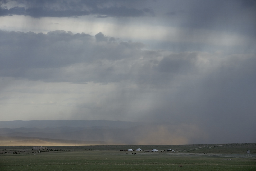
[[[28,76],[31,77],[30,79],[38,80],[47,80],[47,75],[52,72],[49,68],[59,68],[55,72],[60,74],[61,67],[79,65],[79,63],[84,63],[79,65],[82,68],[84,66],[93,70],[94,67],[98,69],[92,75],[86,75],[86,78],[79,80],[72,79],[70,75],[72,79],[70,81],[101,82],[101,78],[104,78],[103,82],[108,82],[108,78],[110,81],[117,80],[113,76],[122,74],[111,75],[114,64],[111,62],[105,64],[102,60],[135,58],[136,55],[143,53],[140,49],[144,47],[139,42],[116,42],[115,38],[106,37],[101,32],[94,37],[84,33],[72,34],[65,31],[53,31],[47,34],[0,31],[0,38],[1,75]]]

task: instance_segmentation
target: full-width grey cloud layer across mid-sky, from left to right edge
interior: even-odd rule
[[[111,82],[130,79],[157,84],[166,78],[169,82],[169,79],[180,76],[206,74],[211,75],[209,81],[217,79],[214,82],[225,82],[228,76],[232,80],[240,76],[239,79],[255,81],[250,75],[255,73],[255,56],[250,54],[183,52],[166,55],[160,51],[143,50],[145,45],[140,42],[119,41],[101,32],[91,36],[60,30],[47,34],[0,31],[0,38],[1,76],[35,79],[29,75],[36,71],[42,75],[37,80],[44,81],[43,73],[48,75],[54,69],[70,75],[63,80],[58,77],[58,81],[66,82],[76,81],[69,79],[74,79],[71,75],[79,75],[79,72],[84,72],[80,77],[83,82],[108,82],[109,78]]]

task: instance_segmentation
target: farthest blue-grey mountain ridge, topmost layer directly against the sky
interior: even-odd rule
[[[0,128],[56,128],[56,127],[97,127],[109,126],[130,128],[144,125],[142,122],[109,121],[109,120],[31,120],[0,121]]]

